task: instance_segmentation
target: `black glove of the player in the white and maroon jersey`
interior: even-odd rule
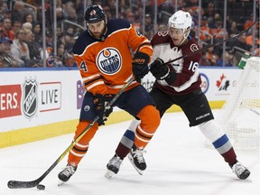
[[[150,65],[150,71],[158,80],[165,80],[169,85],[176,79],[176,73],[174,71],[170,71],[169,67],[164,64],[163,60],[157,58]]]

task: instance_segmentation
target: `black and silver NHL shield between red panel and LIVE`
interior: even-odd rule
[[[37,110],[38,83],[36,79],[25,79],[23,83],[23,114],[32,118]]]

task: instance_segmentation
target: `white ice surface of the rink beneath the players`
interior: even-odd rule
[[[139,175],[125,158],[120,172],[108,180],[106,164],[130,121],[100,127],[78,171],[63,186],[58,173],[67,156],[41,182],[45,190],[8,189],[10,180],[39,178],[70,145],[73,134],[8,147],[0,150],[0,194],[18,195],[258,195],[259,151],[238,151],[237,159],[251,171],[241,181],[215,151],[205,147],[198,127],[190,128],[183,113],[163,116],[162,123],[146,147],[147,169]]]

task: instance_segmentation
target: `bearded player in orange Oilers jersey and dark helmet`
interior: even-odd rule
[[[118,172],[133,144],[135,150],[142,153],[160,124],[160,114],[154,107],[153,99],[140,84],[140,80],[149,71],[148,63],[153,54],[150,42],[123,19],[107,21],[106,14],[98,5],[87,8],[85,20],[87,30],[79,35],[73,47],[74,58],[86,89],[74,139],[96,116],[99,119],[70,150],[68,164],[58,175],[60,184],[69,181],[77,170],[80,160],[88,151],[90,140],[98,131],[98,125],[104,125],[112,107],[120,107],[138,117],[141,124],[136,127],[138,135],[129,135],[125,144],[118,148],[117,155],[107,164],[110,171],[107,174]],[[134,58],[130,50],[135,52]],[[107,109],[107,102],[133,75],[135,81]]]

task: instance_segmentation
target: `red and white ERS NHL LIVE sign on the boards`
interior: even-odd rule
[[[0,118],[25,116],[31,119],[37,112],[60,109],[61,83],[25,78],[22,85],[0,86]]]

